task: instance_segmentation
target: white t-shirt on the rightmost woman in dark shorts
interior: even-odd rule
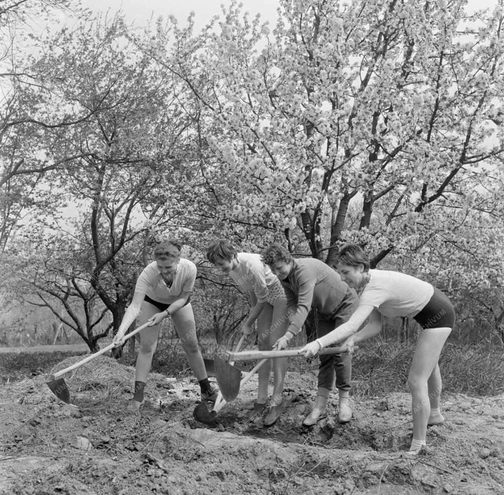
[[[388,317],[413,317],[429,302],[434,287],[428,282],[391,270],[369,270],[370,279],[359,305],[371,305]]]

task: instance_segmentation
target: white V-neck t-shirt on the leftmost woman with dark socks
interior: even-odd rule
[[[185,258],[180,258],[171,287],[167,287],[155,261],[149,263],[139,275],[135,292],[143,292],[151,299],[171,304],[182,290],[191,292],[196,281],[196,265]]]

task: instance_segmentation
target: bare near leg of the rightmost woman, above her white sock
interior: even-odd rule
[[[436,377],[436,366],[441,349],[452,331],[451,328],[425,329],[418,338],[415,354],[411,363],[408,385],[411,391],[411,409],[413,413],[413,440],[425,442],[427,421],[430,414],[428,380],[432,377],[431,392],[434,403],[439,401],[440,377]],[[435,388],[437,387],[437,389]]]

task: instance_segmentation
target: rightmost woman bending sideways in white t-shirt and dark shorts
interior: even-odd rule
[[[346,323],[305,345],[299,353],[310,357],[323,347],[341,341],[352,352],[354,344],[380,332],[382,315],[414,318],[423,328],[408,376],[413,412],[410,452],[417,454],[425,445],[427,425],[444,421],[439,412],[442,381],[438,360],[455,323],[452,303],[439,289],[415,277],[389,270],[370,270],[369,258],[357,244],[340,248],[336,269],[350,287],[362,290],[359,306]],[[357,332],[366,319],[368,323]]]

